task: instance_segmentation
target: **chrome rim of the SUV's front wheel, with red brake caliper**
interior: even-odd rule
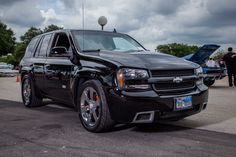
[[[80,100],[80,111],[84,123],[93,127],[98,123],[101,116],[100,98],[92,87],[84,89]]]

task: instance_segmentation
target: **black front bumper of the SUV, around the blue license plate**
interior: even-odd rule
[[[115,89],[105,90],[107,103],[111,118],[117,122],[132,123],[141,113],[149,114],[151,117],[147,121],[156,122],[160,119],[172,119],[178,117],[187,117],[201,112],[205,109],[208,101],[208,88],[200,85],[196,90],[182,95],[159,96],[155,91],[145,92],[125,92]],[[174,111],[174,98],[181,96],[192,96],[193,108]]]

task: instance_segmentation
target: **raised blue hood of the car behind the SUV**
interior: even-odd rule
[[[187,60],[203,65],[205,61],[219,48],[219,45],[203,45]]]

